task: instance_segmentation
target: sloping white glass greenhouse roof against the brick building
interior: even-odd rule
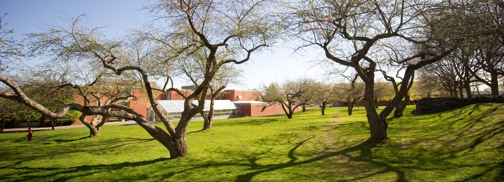
[[[184,100],[158,100],[157,102],[166,112],[182,112],[184,110]],[[193,100],[193,103],[198,105],[197,100]],[[239,108],[230,100],[214,100],[214,110]],[[210,100],[205,100],[205,108],[203,110],[210,110]]]

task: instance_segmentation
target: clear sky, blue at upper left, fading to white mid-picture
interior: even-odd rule
[[[104,29],[110,38],[120,37],[129,29],[141,28],[149,18],[142,6],[149,5],[149,1],[133,0],[87,0],[87,1],[22,1],[0,0],[0,13],[9,12],[6,21],[7,29],[14,29],[16,38],[23,38],[23,33],[37,32],[46,25],[61,25],[60,18],[78,16],[86,13],[95,26],[107,26]],[[323,74],[319,67],[312,67],[309,60],[313,56],[294,54],[290,43],[278,43],[270,50],[253,54],[248,63],[240,65],[243,72],[243,84],[231,85],[229,89],[254,89],[262,84],[282,82],[285,79],[298,77],[316,78]],[[287,45],[287,46],[286,46]],[[32,65],[40,60],[30,60]],[[184,81],[177,81],[175,87],[186,85]]]

